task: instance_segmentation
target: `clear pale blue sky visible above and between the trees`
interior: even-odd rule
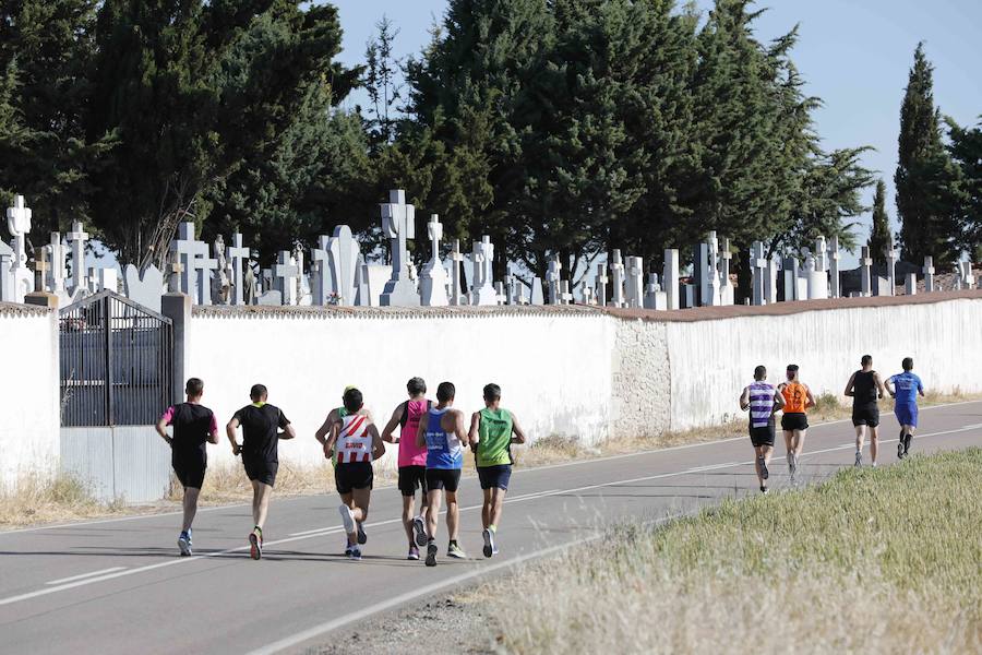
[[[417,53],[446,0],[333,0],[345,31],[340,59],[361,63],[374,24],[387,15],[400,29],[399,56]],[[700,9],[711,0],[697,0]],[[869,168],[887,182],[887,212],[896,221],[893,177],[897,166],[900,102],[918,41],[934,63],[934,99],[960,124],[982,115],[982,0],[768,0],[757,35],[769,40],[800,24],[793,52],[806,93],[825,106],[815,119],[827,150],[871,145]],[[355,102],[362,102],[358,96]],[[872,203],[872,190],[866,199]],[[870,216],[863,216],[864,241]],[[896,224],[895,224],[896,228]]]

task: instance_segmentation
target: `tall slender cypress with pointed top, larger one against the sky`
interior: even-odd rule
[[[957,228],[949,193],[955,167],[942,144],[933,85],[933,67],[924,45],[919,44],[900,108],[894,183],[903,259],[920,262],[931,255],[936,264],[948,264],[956,254]]]

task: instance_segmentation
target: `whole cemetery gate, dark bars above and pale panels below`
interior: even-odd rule
[[[153,426],[173,401],[171,320],[112,291],[59,313],[62,471],[101,500],[163,498],[170,449]]]

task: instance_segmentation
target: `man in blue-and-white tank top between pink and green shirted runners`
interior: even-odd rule
[[[457,524],[460,512],[457,507],[457,486],[464,467],[464,446],[468,443],[464,427],[464,414],[454,409],[456,389],[451,382],[436,388],[436,406],[419,421],[416,442],[427,446],[427,565],[436,565],[436,520],[440,515],[440,493],[446,497],[446,529],[450,557],[467,556],[457,544]]]

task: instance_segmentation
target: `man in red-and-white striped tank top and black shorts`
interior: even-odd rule
[[[346,416],[331,427],[324,446],[326,455],[337,453],[334,483],[342,497],[338,508],[348,545],[345,555],[361,559],[361,546],[368,541],[362,524],[368,519],[372,497],[372,461],[385,454],[385,444],[370,416],[362,413],[363,398],[357,389],[348,389],[344,396]]]

